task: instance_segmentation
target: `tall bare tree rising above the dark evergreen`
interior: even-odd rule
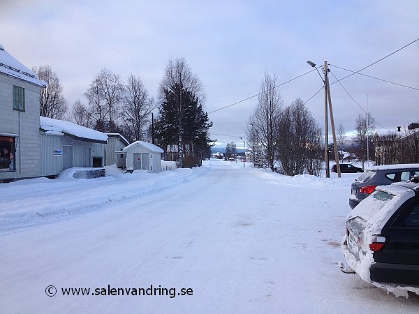
[[[186,94],[198,98],[200,103],[204,101],[203,87],[196,75],[191,71],[184,58],[170,59],[166,66],[163,80],[159,87],[159,100],[161,103],[172,102],[175,106],[177,117],[177,145],[179,147],[179,167],[182,167],[184,147],[182,133],[184,128],[184,98]],[[168,99],[170,97],[170,100]],[[175,144],[175,143],[173,143]]]

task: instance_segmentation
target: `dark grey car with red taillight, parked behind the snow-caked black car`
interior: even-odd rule
[[[351,186],[349,206],[354,209],[362,200],[374,192],[376,186],[386,186],[407,181],[419,174],[419,164],[379,165],[366,169]]]

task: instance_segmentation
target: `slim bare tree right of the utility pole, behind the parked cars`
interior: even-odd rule
[[[365,161],[369,158],[369,149],[371,148],[371,151],[373,151],[372,134],[374,128],[374,118],[369,112],[364,117],[359,114],[358,119],[356,119],[354,142],[357,148],[358,158],[362,161],[362,168],[365,165]]]

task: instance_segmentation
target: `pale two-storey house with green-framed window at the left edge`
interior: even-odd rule
[[[0,182],[41,176],[39,95],[46,85],[0,45]]]

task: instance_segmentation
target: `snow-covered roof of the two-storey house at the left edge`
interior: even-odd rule
[[[46,87],[47,83],[38,79],[36,73],[17,61],[0,45],[0,73],[16,77],[20,80]]]

